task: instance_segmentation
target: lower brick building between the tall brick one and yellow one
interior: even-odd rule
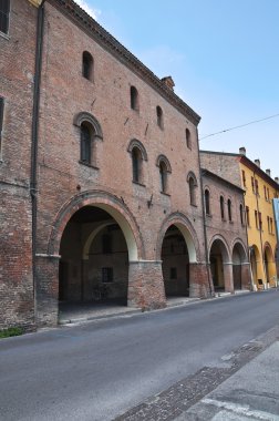
[[[200,154],[208,260],[215,292],[250,289],[244,189],[206,170]]]

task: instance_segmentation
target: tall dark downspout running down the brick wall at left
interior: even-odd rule
[[[40,107],[40,84],[42,69],[42,45],[43,45],[43,21],[44,4],[42,0],[38,9],[37,18],[37,44],[35,44],[35,68],[34,68],[34,91],[33,91],[33,114],[32,114],[32,137],[31,137],[31,174],[30,195],[32,206],[32,275],[33,275],[33,299],[35,309],[35,251],[37,251],[37,167],[38,167],[38,133],[39,133],[39,107]],[[34,311],[35,315],[35,311]]]

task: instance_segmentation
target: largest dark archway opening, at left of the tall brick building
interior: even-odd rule
[[[127,245],[107,212],[95,206],[78,210],[64,229],[60,255],[60,309],[66,304],[127,305]]]

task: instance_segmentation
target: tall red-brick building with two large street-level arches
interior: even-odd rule
[[[208,296],[199,116],[72,0],[3,3],[0,326]]]

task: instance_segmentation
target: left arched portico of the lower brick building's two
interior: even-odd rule
[[[225,238],[215,236],[208,249],[215,291],[234,292],[231,260]]]

